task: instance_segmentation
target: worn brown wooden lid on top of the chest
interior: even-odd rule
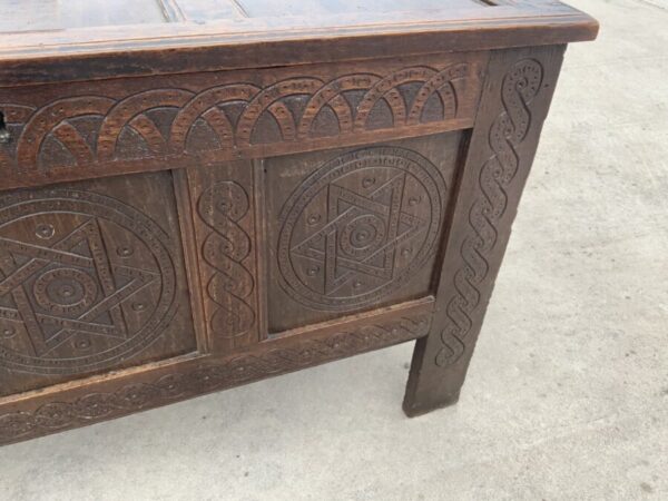
[[[0,0],[0,86],[591,40],[551,0]]]

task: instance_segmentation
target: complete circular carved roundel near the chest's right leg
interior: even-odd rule
[[[423,156],[373,147],[335,158],[310,176],[281,215],[282,285],[316,310],[382,299],[435,252],[446,193]]]

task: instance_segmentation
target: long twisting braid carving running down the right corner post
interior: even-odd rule
[[[441,333],[443,347],[435,363],[446,366],[464,353],[464,337],[471,331],[472,313],[480,306],[480,285],[490,272],[488,256],[497,245],[497,225],[508,206],[508,187],[520,167],[518,147],[531,128],[529,105],[538,96],[543,78],[540,62],[524,59],[505,76],[501,89],[503,110],[490,129],[489,143],[493,155],[480,171],[480,197],[469,213],[469,236],[461,246],[464,266],[454,276],[456,291],[446,308],[446,325]]]

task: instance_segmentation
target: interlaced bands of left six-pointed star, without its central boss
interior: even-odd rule
[[[80,250],[81,244],[88,253]],[[26,283],[47,268],[97,278],[95,297],[84,312],[67,315],[36,306]],[[48,355],[77,334],[127,338],[121,304],[156,279],[157,273],[111,264],[95,218],[48,247],[0,237],[0,298],[9,295],[16,306],[0,306],[0,320],[24,325],[35,356]],[[107,315],[110,322],[100,318]]]

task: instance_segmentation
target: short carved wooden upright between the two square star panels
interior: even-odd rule
[[[258,340],[253,166],[228,163],[188,173],[207,337],[214,351]]]

